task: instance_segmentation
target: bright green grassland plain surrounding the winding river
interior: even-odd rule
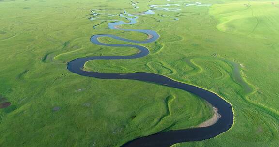
[[[119,147],[140,136],[195,127],[211,118],[211,106],[185,91],[67,70],[67,62],[79,57],[138,52],[92,44],[93,34],[148,37],[108,29],[111,21],[90,21],[91,10],[139,13],[152,4],[184,0],[176,1],[138,0],[140,8],[133,9],[130,0],[0,0],[0,98],[12,103],[0,109],[0,147]],[[90,61],[85,69],[158,73],[208,89],[233,105],[235,123],[229,131],[173,147],[277,147],[279,1],[199,2],[212,6],[157,11],[140,16],[135,25],[121,26],[158,32],[156,42],[144,44],[148,56]]]

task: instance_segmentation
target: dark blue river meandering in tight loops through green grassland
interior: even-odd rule
[[[171,1],[171,0],[169,0]],[[132,5],[135,6],[135,9],[139,8],[136,6],[137,3],[133,3]],[[166,8],[169,6],[209,6],[207,4],[202,4],[198,2],[191,2],[185,5],[179,4],[167,4],[167,5],[151,5],[151,9],[139,14],[129,14],[126,11],[120,14],[120,17],[123,17],[128,20],[128,22],[119,21],[119,20],[102,20],[104,17],[98,17],[98,15],[107,15],[107,17],[114,17],[116,15],[111,14],[104,14],[104,13],[97,13],[93,12],[91,20],[98,20],[98,21],[113,21],[109,23],[110,29],[122,30],[122,31],[136,31],[140,33],[145,33],[149,36],[149,39],[145,41],[137,41],[137,40],[130,40],[125,39],[122,37],[118,37],[111,34],[99,34],[93,35],[91,37],[91,42],[97,45],[103,46],[113,46],[113,47],[134,47],[140,50],[138,54],[132,56],[94,56],[94,57],[85,57],[85,58],[78,58],[68,63],[68,70],[77,73],[82,76],[100,78],[100,79],[130,79],[130,80],[139,80],[145,82],[152,82],[159,85],[164,85],[172,88],[178,88],[185,90],[187,92],[193,93],[200,98],[206,100],[208,103],[211,103],[213,107],[218,109],[218,113],[221,115],[221,118],[218,121],[208,127],[202,128],[190,128],[190,129],[183,129],[183,130],[175,130],[175,131],[167,131],[167,132],[157,132],[150,136],[140,137],[135,140],[132,140],[123,145],[123,147],[170,147],[173,144],[181,143],[181,142],[188,142],[188,141],[201,141],[205,139],[213,138],[222,132],[226,132],[231,128],[233,125],[233,108],[232,105],[226,102],[224,99],[219,97],[217,94],[210,92],[208,90],[188,85],[185,83],[181,83],[178,81],[174,81],[166,76],[155,74],[155,73],[127,73],[127,74],[120,74],[120,73],[98,73],[98,72],[91,72],[91,71],[84,71],[83,67],[87,61],[91,60],[115,60],[115,59],[135,59],[147,56],[149,54],[148,48],[140,45],[131,45],[131,44],[106,44],[99,42],[99,37],[110,37],[117,40],[130,42],[130,43],[138,43],[138,44],[145,44],[154,42],[159,38],[159,34],[153,30],[147,29],[122,29],[119,26],[121,25],[132,25],[137,23],[137,19],[140,15],[150,15],[155,14],[155,11],[179,11],[179,8]],[[175,19],[178,20],[178,19]],[[96,26],[95,26],[96,27]]]

